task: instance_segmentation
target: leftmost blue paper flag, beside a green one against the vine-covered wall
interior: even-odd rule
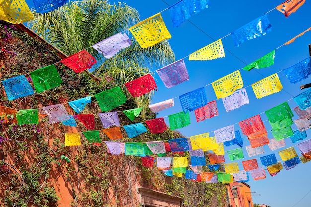
[[[3,80],[2,84],[4,85],[6,96],[9,101],[34,94],[25,75]]]

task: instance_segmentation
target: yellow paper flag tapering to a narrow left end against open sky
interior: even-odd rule
[[[219,39],[189,55],[190,60],[213,60],[225,57],[222,40]]]

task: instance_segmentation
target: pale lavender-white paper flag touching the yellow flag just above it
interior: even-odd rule
[[[226,112],[238,109],[249,104],[248,95],[245,88],[235,91],[232,95],[222,98]]]

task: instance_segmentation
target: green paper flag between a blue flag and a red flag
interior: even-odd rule
[[[30,76],[38,93],[55,88],[62,83],[62,79],[54,65],[30,72]]]

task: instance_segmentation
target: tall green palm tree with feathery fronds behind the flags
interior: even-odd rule
[[[27,26],[67,55],[87,49],[99,63],[94,75],[100,78],[108,75],[117,85],[124,85],[150,73],[148,67],[165,66],[175,60],[167,41],[141,48],[133,38],[130,47],[110,59],[91,47],[114,34],[126,32],[139,21],[137,10],[125,3],[111,5],[108,0],[79,0],[45,14],[34,12],[34,20]],[[146,109],[151,97],[152,93],[148,93],[135,98],[137,107]]]

